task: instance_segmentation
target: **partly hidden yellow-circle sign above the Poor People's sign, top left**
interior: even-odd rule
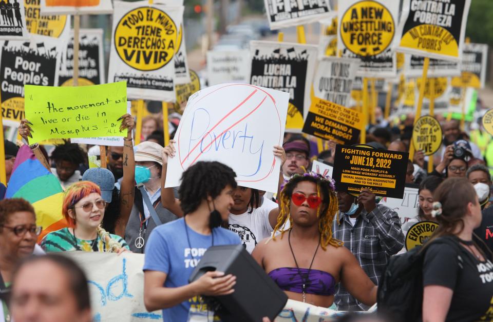
[[[40,2],[37,0],[24,0],[24,7],[26,8],[26,26],[28,32],[53,38],[68,38],[70,32],[70,16],[42,16]]]

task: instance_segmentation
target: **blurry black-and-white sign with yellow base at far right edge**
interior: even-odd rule
[[[452,86],[484,88],[488,45],[464,44],[461,76],[452,78]]]

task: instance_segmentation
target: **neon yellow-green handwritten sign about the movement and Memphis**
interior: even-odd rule
[[[25,86],[30,142],[51,138],[125,136],[117,119],[127,110],[125,82],[84,87]]]

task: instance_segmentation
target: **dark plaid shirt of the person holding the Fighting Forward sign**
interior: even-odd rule
[[[353,227],[349,215],[338,215],[340,224],[336,216],[332,226],[334,238],[344,242],[368,277],[378,285],[389,257],[404,246],[399,216],[386,206],[376,205],[370,213],[363,209]],[[338,310],[366,311],[370,308],[349,294],[341,283],[336,285],[335,290],[334,303]]]

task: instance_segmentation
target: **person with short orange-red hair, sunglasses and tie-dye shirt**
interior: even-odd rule
[[[105,207],[106,202],[96,184],[89,181],[72,184],[64,192],[62,205],[62,213],[71,227],[50,232],[41,241],[41,247],[47,252],[128,251],[122,237],[101,228]]]

